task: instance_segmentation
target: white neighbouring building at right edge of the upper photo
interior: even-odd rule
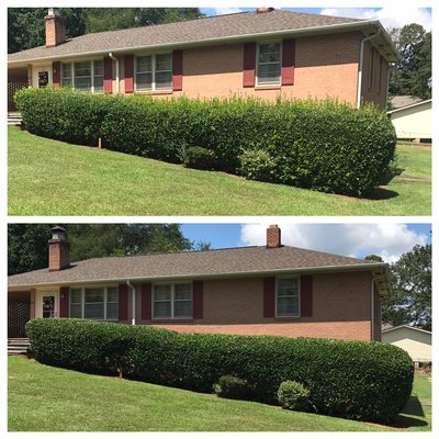
[[[431,99],[387,112],[399,139],[431,140]]]

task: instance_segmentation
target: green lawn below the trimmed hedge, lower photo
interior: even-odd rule
[[[9,357],[8,382],[10,431],[395,430],[389,426],[89,375],[40,364],[24,357]],[[419,412],[404,415],[402,419],[404,431],[429,429]]]

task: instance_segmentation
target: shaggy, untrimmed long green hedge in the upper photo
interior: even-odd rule
[[[106,148],[171,162],[203,147],[214,169],[233,173],[245,172],[244,153],[263,151],[270,169],[257,175],[272,182],[351,195],[385,179],[396,145],[385,113],[334,100],[159,100],[68,89],[20,90],[15,100],[37,135],[86,145],[101,137]]]

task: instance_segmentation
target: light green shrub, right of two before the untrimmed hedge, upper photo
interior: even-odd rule
[[[248,180],[273,181],[275,161],[263,149],[249,149],[239,156],[239,173]]]

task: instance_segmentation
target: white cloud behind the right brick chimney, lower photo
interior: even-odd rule
[[[416,244],[427,244],[426,235],[409,229],[406,224],[278,225],[284,245],[360,258],[373,254],[381,256],[385,262],[396,261]],[[267,227],[268,223],[243,225],[241,244],[263,246]]]

